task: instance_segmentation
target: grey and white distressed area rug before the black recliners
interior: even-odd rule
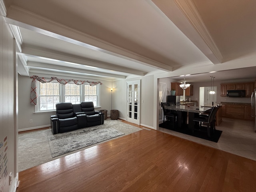
[[[56,157],[121,135],[124,135],[124,133],[103,124],[71,132],[48,135],[48,141],[52,157]]]

